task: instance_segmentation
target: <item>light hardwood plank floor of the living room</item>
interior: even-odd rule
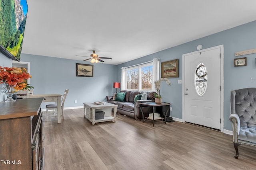
[[[64,110],[44,122],[45,170],[249,170],[256,147],[240,145],[235,159],[232,136],[181,122],[117,121],[92,125],[83,109]]]

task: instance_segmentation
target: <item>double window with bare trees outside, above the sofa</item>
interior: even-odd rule
[[[143,64],[125,69],[126,90],[154,91],[153,64]]]

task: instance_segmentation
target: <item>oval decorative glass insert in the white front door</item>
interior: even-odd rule
[[[207,71],[204,63],[199,63],[195,70],[195,88],[198,96],[204,96],[207,88]]]

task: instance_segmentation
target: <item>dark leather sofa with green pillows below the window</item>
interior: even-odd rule
[[[135,104],[133,104],[135,96],[142,92],[128,91],[128,90],[122,90],[121,92],[126,92],[124,102],[113,101],[113,96],[106,96],[106,102],[118,105],[117,113],[132,117],[136,121],[139,121],[140,119],[142,119],[142,113],[139,108],[139,103],[154,102],[155,100],[154,94],[156,93],[156,92],[146,92],[148,96],[147,100],[137,100]],[[145,117],[148,116],[148,113],[152,113],[152,107],[150,106],[142,105],[141,108]]]

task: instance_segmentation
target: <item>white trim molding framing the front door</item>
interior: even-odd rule
[[[182,55],[182,122],[185,122],[185,56],[213,49],[220,49],[220,131],[224,129],[224,45],[210,47]]]

